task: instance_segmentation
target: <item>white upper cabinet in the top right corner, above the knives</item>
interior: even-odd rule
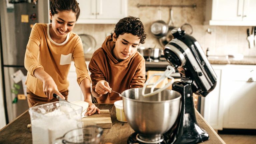
[[[256,0],[207,0],[204,24],[255,26]]]

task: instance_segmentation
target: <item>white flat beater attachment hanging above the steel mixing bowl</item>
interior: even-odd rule
[[[170,74],[175,73],[175,69],[174,67],[168,65],[167,69],[163,72],[163,73],[158,73],[158,74],[153,74],[144,84],[143,88],[142,88],[142,96],[144,97],[149,97],[152,95],[155,95],[165,89],[167,89],[170,85],[172,85],[172,83],[174,82],[174,78],[170,76]],[[155,83],[149,83],[150,80],[154,77],[154,76],[161,76]],[[154,91],[155,87],[162,82],[165,78],[169,78],[171,79],[170,82],[168,82],[167,84],[165,84],[164,87],[157,89],[156,91]],[[147,86],[152,85],[151,89],[150,89],[150,93],[145,94],[145,89]]]

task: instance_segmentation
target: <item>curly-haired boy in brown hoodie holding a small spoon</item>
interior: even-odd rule
[[[89,64],[92,79],[92,95],[98,103],[114,103],[121,100],[117,93],[130,88],[143,87],[145,60],[137,52],[144,44],[146,34],[139,18],[125,17],[116,24],[114,33],[97,49]]]

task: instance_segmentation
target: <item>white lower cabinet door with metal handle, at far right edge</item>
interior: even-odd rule
[[[223,71],[223,128],[256,129],[256,66]]]

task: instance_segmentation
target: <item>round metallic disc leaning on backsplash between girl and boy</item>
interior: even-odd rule
[[[93,53],[96,47],[95,38],[88,34],[80,34],[79,36],[83,43],[84,54]]]

